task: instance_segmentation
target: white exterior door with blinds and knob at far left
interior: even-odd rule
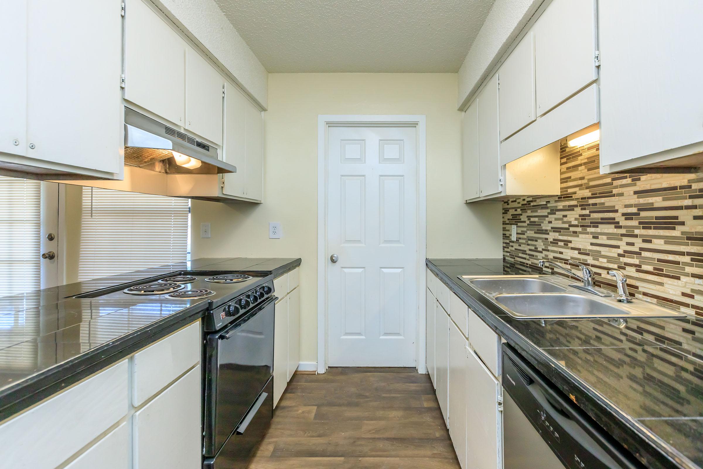
[[[58,207],[58,184],[0,176],[0,297],[58,285]]]

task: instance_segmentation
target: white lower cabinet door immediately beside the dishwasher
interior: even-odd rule
[[[503,468],[503,414],[498,408],[501,383],[478,356],[467,350],[466,467]]]

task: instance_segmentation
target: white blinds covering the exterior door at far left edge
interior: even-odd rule
[[[41,182],[0,176],[0,297],[41,288]]]

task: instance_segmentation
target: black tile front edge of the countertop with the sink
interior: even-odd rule
[[[503,321],[501,315],[505,315],[505,311],[489,302],[470,285],[463,282],[462,285],[459,285],[453,278],[445,274],[441,267],[434,265],[430,259],[426,260],[426,264],[442,283],[469,305],[498,335],[501,335],[508,344],[515,347],[546,378],[571,397],[583,411],[588,413],[612,437],[621,442],[647,468],[698,469],[695,463],[654,435],[638,420],[613,406],[593,387],[569,373],[566,368],[543,352],[540,347]],[[486,274],[489,273],[486,272]]]

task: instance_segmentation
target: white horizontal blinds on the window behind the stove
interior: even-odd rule
[[[188,200],[83,188],[79,281],[186,260]]]

